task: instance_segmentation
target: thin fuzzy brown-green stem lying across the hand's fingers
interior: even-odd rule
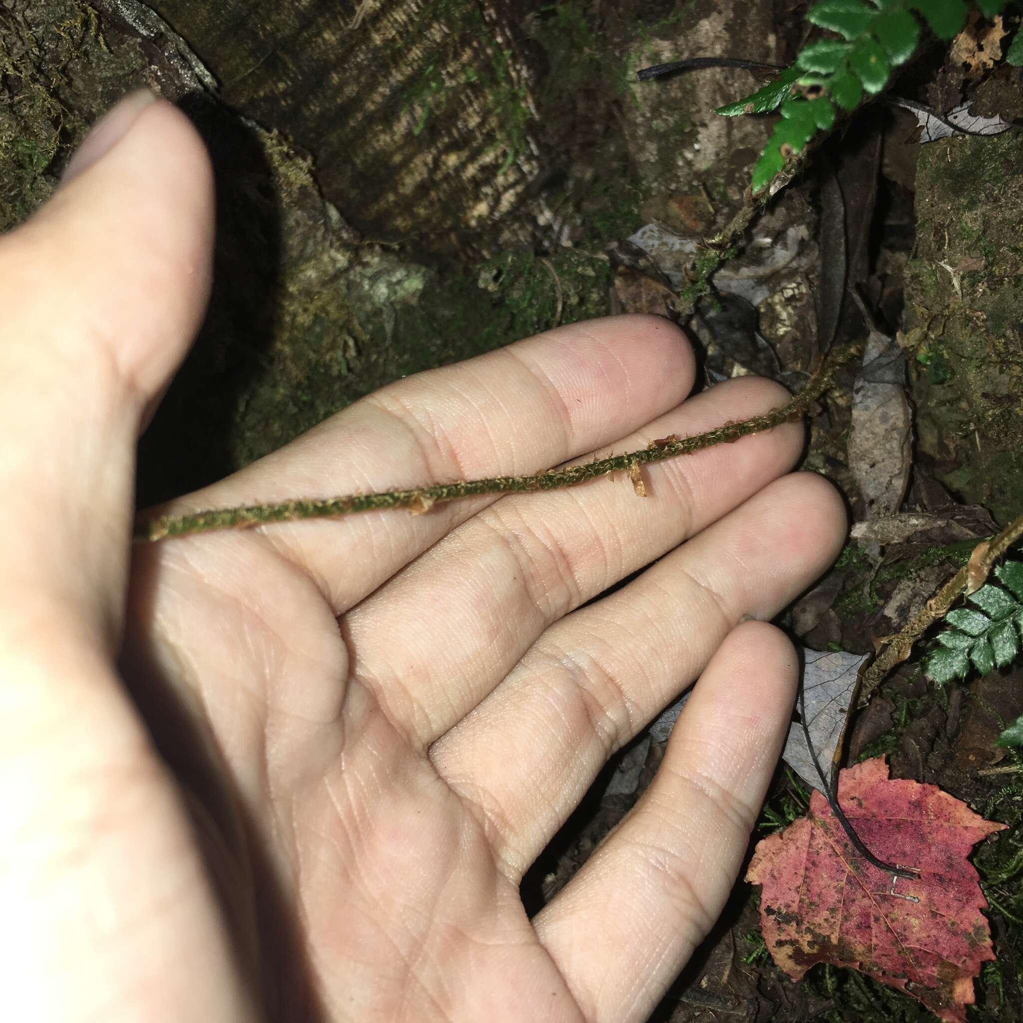
[[[852,342],[832,349],[806,387],[787,405],[764,415],[755,415],[739,422],[726,422],[695,437],[678,438],[674,434],[651,441],[639,451],[597,458],[581,465],[550,469],[535,476],[497,476],[484,480],[461,480],[438,483],[410,490],[385,490],[369,494],[348,494],[344,497],[294,498],[267,504],[248,504],[240,507],[192,511],[186,515],[140,516],[135,522],[134,539],[147,542],[167,537],[205,533],[217,529],[246,529],[267,523],[296,522],[300,519],[332,519],[353,511],[373,508],[403,507],[413,514],[428,511],[443,501],[478,497],[482,494],[530,493],[537,490],[555,490],[574,487],[587,480],[612,473],[634,474],[639,465],[664,461],[676,455],[694,454],[717,444],[730,444],[751,434],[762,433],[801,419],[832,385],[835,371],[854,354],[862,351],[862,342]]]

